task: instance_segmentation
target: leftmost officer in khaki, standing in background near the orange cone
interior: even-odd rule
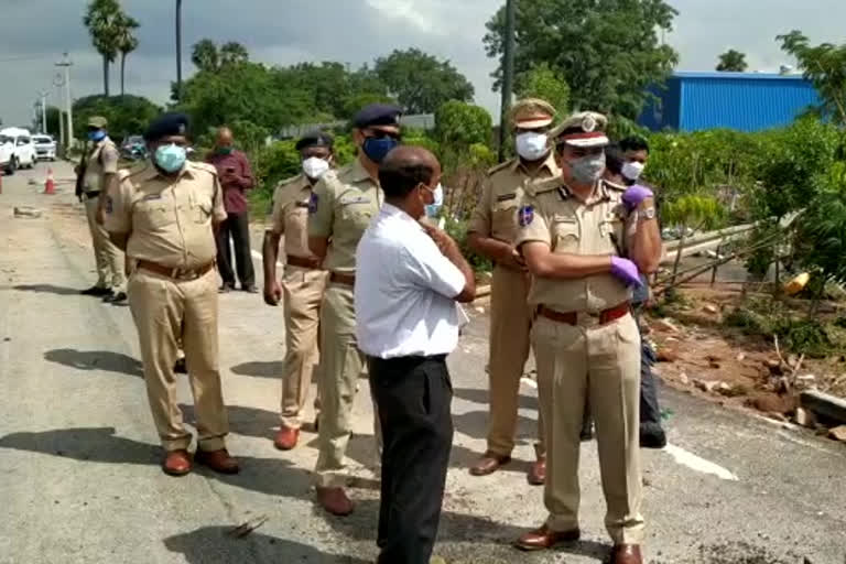
[[[94,260],[97,264],[97,283],[82,294],[101,296],[104,302],[121,302],[127,299],[123,253],[109,240],[109,234],[101,225],[102,202],[100,194],[108,189],[118,175],[118,148],[106,132],[106,118],[94,116],[88,120],[88,140],[91,150],[86,153],[80,197],[85,200],[88,229],[91,232]]]

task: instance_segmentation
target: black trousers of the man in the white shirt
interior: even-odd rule
[[[446,356],[368,357],[382,425],[378,564],[429,564],[453,446]]]

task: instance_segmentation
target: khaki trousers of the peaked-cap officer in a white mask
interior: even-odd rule
[[[510,456],[517,433],[520,378],[529,358],[532,307],[527,303],[529,274],[505,267],[494,269],[490,288],[490,343],[488,379],[488,451]],[[539,410],[538,456],[543,456],[543,417]]]

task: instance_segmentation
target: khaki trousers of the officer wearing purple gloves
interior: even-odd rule
[[[615,544],[639,544],[640,336],[631,315],[592,328],[539,317],[532,328],[546,432],[546,524],[578,527],[578,455],[587,394],[596,421],[605,525]]]

